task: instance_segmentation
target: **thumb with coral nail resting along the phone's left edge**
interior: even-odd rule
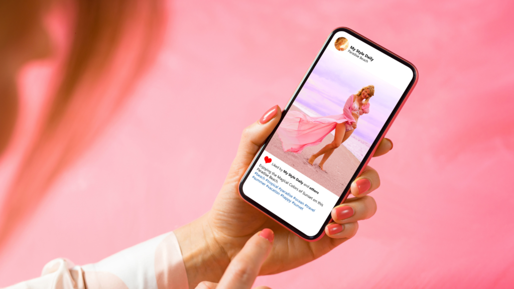
[[[255,154],[257,154],[266,138],[276,127],[281,116],[282,111],[280,107],[275,105],[265,112],[258,121],[245,128],[237,154],[234,161],[232,161],[232,166],[230,166],[226,182],[239,182]]]

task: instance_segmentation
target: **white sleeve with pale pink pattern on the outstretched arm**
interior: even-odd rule
[[[186,267],[177,238],[166,233],[104,260],[75,266],[55,259],[41,277],[8,289],[188,289]]]

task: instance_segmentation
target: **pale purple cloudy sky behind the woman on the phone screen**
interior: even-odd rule
[[[295,103],[299,102],[322,116],[341,114],[350,95],[357,93],[363,86],[373,84],[375,95],[370,100],[370,113],[359,118],[353,134],[371,144],[400,99],[402,91],[348,61],[342,53],[348,52],[325,50]]]

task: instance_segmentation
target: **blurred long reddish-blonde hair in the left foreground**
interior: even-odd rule
[[[31,48],[32,42],[27,41],[39,35],[34,31],[41,29],[40,19],[46,17],[53,2],[0,1],[0,57],[12,55],[10,58],[17,60],[21,49]],[[72,15],[69,48],[63,52],[56,88],[43,109],[40,128],[3,197],[0,252],[15,228],[38,208],[53,181],[127,101],[136,79],[156,56],[166,21],[164,0],[55,3],[62,5],[58,7],[63,13]],[[12,129],[4,133],[3,123],[14,125],[16,116],[4,114],[3,99],[11,100],[8,112],[17,109],[17,93],[2,83],[3,77],[0,75],[0,91],[11,95],[0,95],[0,156],[12,134]]]

